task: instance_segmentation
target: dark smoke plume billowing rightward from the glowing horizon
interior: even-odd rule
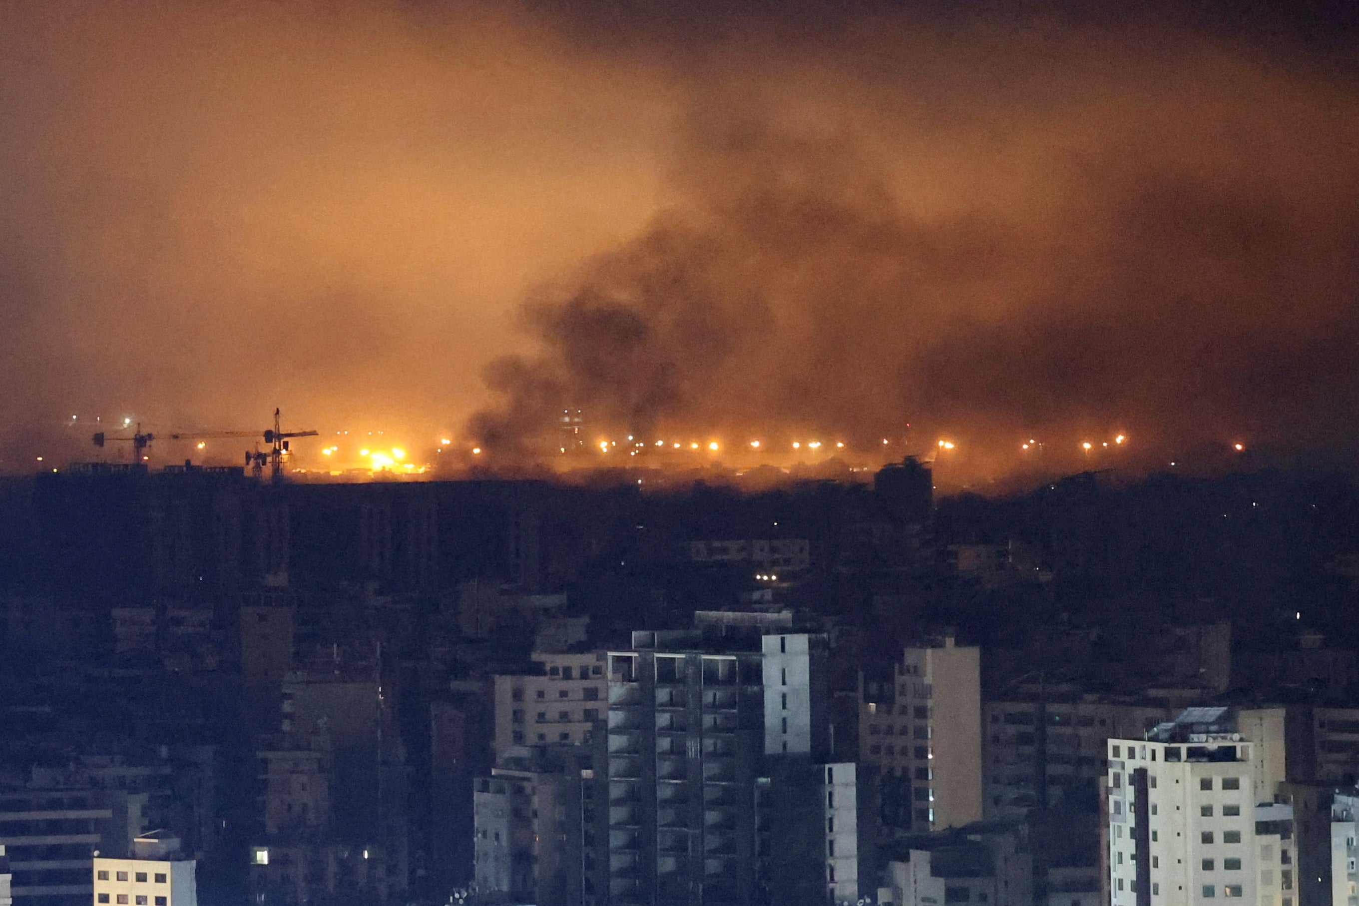
[[[529,303],[540,350],[488,371],[474,432],[550,441],[573,406],[647,437],[911,422],[991,473],[1034,435],[1072,459],[1116,432],[1341,437],[1352,94],[1242,45],[1120,41],[974,31],[951,56],[889,27],[754,83],[731,61],[693,102],[682,204]]]

